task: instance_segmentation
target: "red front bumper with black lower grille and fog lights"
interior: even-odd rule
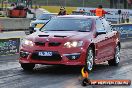
[[[53,56],[45,57],[39,56],[39,51],[51,51]],[[34,63],[34,64],[48,64],[48,65],[84,65],[87,49],[83,47],[71,48],[71,49],[44,49],[28,51],[21,49],[20,51],[20,63]]]

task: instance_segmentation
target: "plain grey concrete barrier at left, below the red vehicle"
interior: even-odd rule
[[[0,29],[2,31],[26,30],[30,22],[28,18],[0,18]]]

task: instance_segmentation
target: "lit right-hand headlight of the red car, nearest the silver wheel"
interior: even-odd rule
[[[66,42],[64,44],[64,46],[67,48],[80,47],[82,45],[83,45],[83,41],[72,41],[72,42]]]

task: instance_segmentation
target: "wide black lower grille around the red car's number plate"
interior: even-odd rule
[[[43,60],[43,61],[61,61],[61,56],[58,52],[52,52],[52,56],[39,56],[38,52],[32,54],[31,58],[33,60]]]

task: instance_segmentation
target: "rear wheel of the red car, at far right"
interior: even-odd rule
[[[120,47],[119,45],[115,48],[114,58],[108,61],[110,66],[118,66],[120,62]]]

